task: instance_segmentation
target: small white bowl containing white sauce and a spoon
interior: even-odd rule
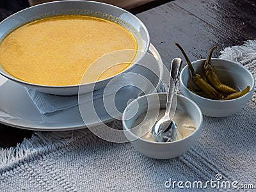
[[[177,109],[188,113],[195,122],[195,131],[186,138],[169,143],[157,143],[154,141],[144,140],[143,138],[136,136],[136,134],[131,131],[131,127],[138,116],[145,113],[147,109],[157,109],[159,107],[158,102],[160,103],[160,108],[165,108],[166,93],[152,93],[139,97],[125,108],[123,115],[123,129],[125,136],[129,141],[131,141],[132,146],[145,156],[152,157],[154,159],[170,159],[181,156],[187,152],[189,148],[193,147],[196,140],[200,137],[203,122],[202,112],[200,111],[200,108],[196,106],[195,102],[182,95],[177,95]],[[134,112],[133,109],[138,109],[137,113]],[[134,113],[136,113],[136,115],[134,115]],[[132,116],[132,118],[129,118],[129,116]]]

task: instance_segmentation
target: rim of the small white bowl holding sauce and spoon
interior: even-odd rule
[[[148,95],[143,95],[142,97],[138,97],[137,99],[135,99],[135,100],[133,100],[131,103],[129,103],[129,104],[127,105],[127,107],[124,109],[124,111],[127,110],[127,108],[128,108],[131,104],[133,104],[134,102],[138,102],[138,100],[141,99],[141,98],[143,98],[143,97],[147,97],[147,96],[150,97],[150,95],[166,95],[166,94],[167,94],[167,93],[150,93],[150,94],[148,94]],[[196,134],[196,132],[198,132],[198,131],[200,131],[200,130],[202,129],[202,126],[203,126],[203,114],[202,114],[202,111],[201,111],[201,109],[199,108],[199,106],[198,106],[193,100],[191,100],[191,99],[189,99],[188,97],[185,97],[185,96],[183,96],[183,95],[179,95],[179,94],[177,94],[177,97],[180,97],[180,98],[182,98],[182,99],[184,99],[184,100],[188,100],[188,102],[191,102],[191,103],[196,107],[196,109],[199,111],[200,121],[199,121],[198,127],[196,127],[195,131],[192,132],[191,134],[189,134],[189,136],[186,136],[185,138],[182,138],[182,139],[180,139],[180,140],[172,141],[172,142],[168,142],[168,143],[166,143],[166,142],[156,142],[156,141],[144,140],[143,138],[138,137],[136,134],[134,134],[134,133],[131,131],[131,129],[129,129],[129,128],[127,127],[127,125],[125,124],[125,120],[124,120],[124,115],[125,115],[125,113],[123,113],[123,116],[122,116],[123,129],[124,129],[125,131],[127,131],[129,134],[131,134],[132,136],[136,137],[136,140],[134,140],[134,141],[141,140],[141,141],[144,141],[144,142],[147,142],[147,143],[153,143],[153,144],[157,144],[157,145],[170,145],[170,143],[179,143],[179,142],[182,142],[182,141],[184,141],[184,140],[188,140],[190,137],[192,137],[194,134]]]

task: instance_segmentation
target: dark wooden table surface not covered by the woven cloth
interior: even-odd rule
[[[0,19],[28,6],[22,1],[15,2],[19,3],[11,3],[12,10],[8,12],[3,12],[0,3]],[[245,40],[256,38],[254,0],[177,0],[156,8],[152,8],[150,4],[147,6],[131,11],[138,13],[151,8],[137,16],[147,26],[151,42],[164,63],[170,62],[172,58],[182,57],[173,44],[174,41],[184,47],[191,60],[196,60],[205,58],[213,45],[218,45],[218,51],[214,53],[214,57],[217,57],[224,47],[241,45]],[[33,131],[0,124],[0,147],[15,147],[31,134]]]

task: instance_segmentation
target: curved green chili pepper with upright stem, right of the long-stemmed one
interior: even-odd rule
[[[211,63],[211,57],[212,57],[212,52],[214,49],[216,49],[217,46],[212,47],[211,51],[209,52],[209,55],[207,57],[207,60],[204,63],[204,73],[207,81],[214,87],[216,90],[218,90],[221,93],[225,94],[231,94],[231,93],[236,93],[237,91],[234,90],[234,88],[231,88],[230,86],[227,86],[226,84],[223,84],[219,77],[215,73],[215,69]]]

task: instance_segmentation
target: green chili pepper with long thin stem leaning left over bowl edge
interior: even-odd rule
[[[191,70],[192,74],[192,81],[202,90],[202,92],[205,93],[210,99],[224,99],[224,95],[221,93],[218,93],[217,90],[211,86],[211,84],[207,83],[202,79],[202,77],[199,74],[196,74],[195,69],[193,68],[191,62],[189,61],[188,56],[186,55],[186,52],[182,49],[182,47],[177,43],[174,42],[177,47],[179,47],[180,51],[184,55],[184,58],[186,59],[188,63],[188,67]]]

